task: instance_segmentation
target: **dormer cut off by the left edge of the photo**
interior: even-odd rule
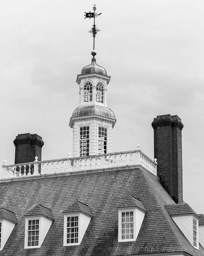
[[[15,213],[5,208],[0,208],[0,251],[5,246],[16,223]]]

